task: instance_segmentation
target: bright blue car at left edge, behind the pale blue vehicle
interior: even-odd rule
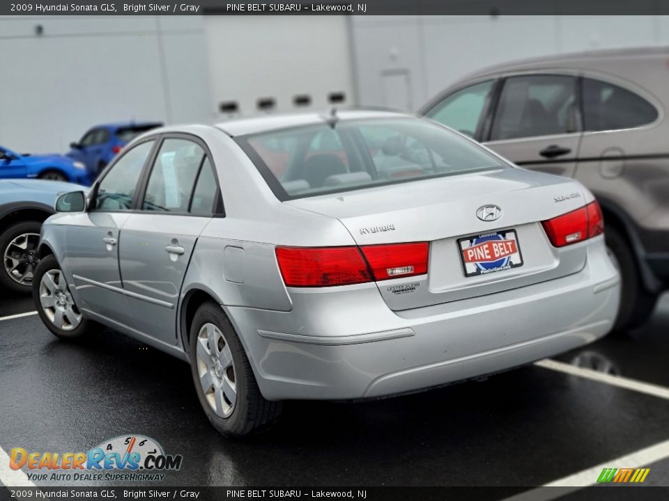
[[[55,153],[19,154],[0,146],[0,179],[22,177],[91,184],[91,177],[81,161]]]

